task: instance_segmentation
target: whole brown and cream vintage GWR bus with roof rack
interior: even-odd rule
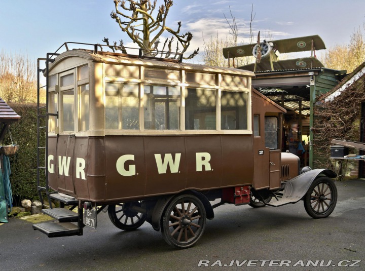
[[[188,248],[222,204],[303,200],[314,218],[332,213],[336,174],[300,172],[299,158],[281,152],[286,111],[251,88],[253,72],[99,47],[65,44],[39,59],[38,189],[60,208],[43,209],[57,221],[34,229],[82,235],[107,210],[120,229],[147,221]]]

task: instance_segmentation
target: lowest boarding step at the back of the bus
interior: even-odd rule
[[[82,235],[82,229],[70,222],[60,223],[58,221],[33,224],[33,229],[38,229],[48,237],[63,237]]]

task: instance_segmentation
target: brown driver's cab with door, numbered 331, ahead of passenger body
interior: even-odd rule
[[[286,110],[252,89],[252,127],[256,190],[280,187],[281,126]]]

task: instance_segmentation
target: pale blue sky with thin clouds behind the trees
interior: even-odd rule
[[[272,40],[318,34],[328,49],[349,43],[351,33],[359,27],[365,32],[363,0],[173,2],[167,25],[176,29],[177,22],[181,21],[181,31],[193,33],[190,49],[200,48],[200,56],[190,61],[193,63],[202,63],[203,37],[207,41],[217,34],[223,39],[229,35],[225,16],[232,20],[230,10],[238,24],[238,42],[247,44],[252,5],[254,36],[259,30],[261,33],[270,31]],[[158,0],[158,4],[161,3]],[[113,0],[0,0],[0,53],[23,54],[36,60],[55,52],[65,42],[102,44],[104,37],[110,41],[123,40],[125,46],[136,47],[111,19],[112,11]]]

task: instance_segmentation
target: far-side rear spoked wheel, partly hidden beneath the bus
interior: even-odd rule
[[[108,215],[112,223],[123,230],[134,230],[139,228],[147,216],[133,207],[141,207],[140,202],[126,202],[121,204],[113,204],[108,207]]]

